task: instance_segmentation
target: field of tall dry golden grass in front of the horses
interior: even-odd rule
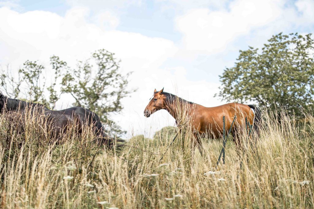
[[[92,142],[90,128],[56,144],[44,119],[24,118],[21,133],[8,118],[0,118],[0,208],[314,207],[310,116],[306,124],[286,117],[279,124],[264,114],[257,151],[243,130],[244,152],[229,140],[217,170],[222,141],[204,139],[204,155],[193,154],[185,127],[168,150],[171,128],[108,151]]]

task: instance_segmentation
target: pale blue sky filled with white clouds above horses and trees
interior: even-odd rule
[[[138,88],[113,117],[128,136],[150,136],[174,124],[165,111],[143,117],[154,88],[207,107],[222,104],[213,97],[219,75],[239,50],[261,48],[280,32],[312,33],[313,11],[313,0],[0,0],[0,64],[16,71],[27,59],[49,65],[56,54],[74,65],[97,49],[112,51],[122,72],[134,71],[130,88]],[[63,97],[58,107],[71,101]]]

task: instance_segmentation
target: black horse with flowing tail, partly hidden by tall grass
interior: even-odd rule
[[[76,128],[75,130],[77,130],[78,134],[82,133],[84,127],[91,126],[95,135],[100,139],[100,145],[106,145],[108,148],[112,148],[116,141],[123,142],[121,139],[116,140],[108,137],[98,115],[83,107],[71,107],[64,110],[53,111],[42,104],[11,99],[0,93],[1,114],[3,112],[20,112],[24,115],[27,110],[30,110],[34,115],[39,116],[41,114],[45,116],[47,122],[49,122],[50,128],[52,128],[51,133],[54,139],[60,138],[71,126]],[[121,146],[121,144],[119,145]]]

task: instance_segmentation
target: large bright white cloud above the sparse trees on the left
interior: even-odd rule
[[[32,11],[18,13],[0,8],[0,36],[7,50],[1,50],[1,57],[7,61],[21,62],[26,59],[47,60],[57,54],[65,60],[75,62],[84,59],[96,49],[106,48],[115,52],[123,62],[134,62],[138,66],[159,66],[177,49],[173,42],[149,38],[138,33],[104,30],[89,24],[85,17],[86,8],[73,8],[65,17],[55,13]],[[26,53],[26,52],[29,53]],[[10,53],[16,53],[9,56]]]

